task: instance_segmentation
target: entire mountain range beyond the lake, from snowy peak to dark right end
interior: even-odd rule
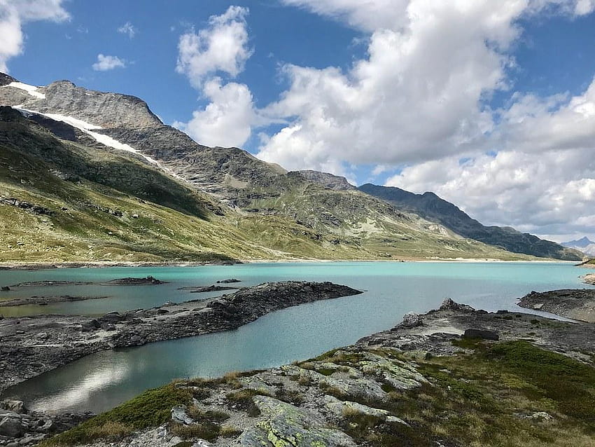
[[[0,261],[581,257],[431,193],[414,206],[202,146],[137,97],[69,81],[0,74],[0,186]]]

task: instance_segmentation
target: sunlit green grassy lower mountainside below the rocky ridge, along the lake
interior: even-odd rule
[[[260,208],[232,209],[69,125],[2,107],[0,261],[510,259],[363,193],[283,182],[276,198],[255,195]]]

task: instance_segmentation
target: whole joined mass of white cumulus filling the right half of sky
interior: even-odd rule
[[[594,0],[283,2],[369,34],[369,46],[347,70],[283,67],[290,88],[262,113],[288,125],[262,138],[260,158],[339,174],[375,165],[373,175],[400,172],[388,184],[435,191],[488,224],[595,233],[585,219],[595,170],[584,160],[595,149],[595,82],[542,98],[513,93],[507,76],[519,19],[586,15]],[[499,90],[510,105],[492,110]]]

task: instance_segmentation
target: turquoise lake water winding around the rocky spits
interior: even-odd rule
[[[279,366],[354,343],[389,329],[406,312],[437,308],[445,297],[485,310],[521,310],[516,299],[531,290],[589,287],[572,263],[253,263],[237,266],[77,268],[0,271],[0,285],[34,280],[107,281],[153,275],[158,286],[27,287],[8,296],[83,295],[112,298],[27,306],[18,312],[98,315],[150,308],[225,293],[189,294],[179,287],[206,286],[235,277],[239,285],[279,280],[346,284],[365,294],[272,312],[234,331],[99,352],[7,390],[30,408],[104,411],[174,378],[221,376],[228,371]],[[0,295],[0,298],[2,295]],[[0,313],[6,315],[5,310]],[[15,309],[15,308],[12,308]],[[522,310],[527,311],[527,310]]]

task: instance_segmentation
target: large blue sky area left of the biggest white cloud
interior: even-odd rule
[[[39,85],[69,79],[86,88],[127,93],[146,100],[165,123],[188,120],[207,102],[175,71],[179,37],[192,27],[206,26],[211,15],[225,12],[230,3],[174,3],[172,7],[172,1],[106,0],[100,8],[88,1],[66,3],[69,22],[25,25],[25,53],[10,60],[10,73]],[[257,106],[274,101],[287,86],[277,74],[279,64],[347,67],[353,57],[365,53],[365,46],[351,44],[363,34],[330,18],[275,0],[233,4],[249,8],[249,45],[254,53],[237,81],[250,86]],[[127,22],[137,29],[132,39],[117,32]],[[99,53],[129,64],[125,69],[94,71]]]

